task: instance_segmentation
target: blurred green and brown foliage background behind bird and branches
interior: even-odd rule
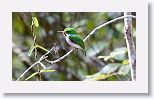
[[[132,13],[136,15],[135,12]],[[34,27],[37,43],[51,49],[56,43],[58,54],[53,51],[48,60],[55,60],[66,54],[71,47],[62,34],[66,27],[74,27],[85,38],[95,27],[122,16],[121,12],[33,12],[39,27]],[[36,60],[34,53],[28,56],[33,45],[31,32],[32,17],[28,12],[12,13],[12,80],[16,80]],[[133,36],[136,41],[136,21],[133,19]],[[124,21],[119,20],[96,31],[86,42],[87,57],[75,50],[64,60],[53,64],[54,72],[41,73],[43,81],[127,81],[130,80],[127,48],[124,38]],[[46,52],[38,49],[37,59]],[[43,61],[46,67],[51,66]],[[37,71],[34,67],[21,80]],[[29,79],[37,81],[38,75]]]

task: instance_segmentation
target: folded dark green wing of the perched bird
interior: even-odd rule
[[[73,43],[75,43],[75,44],[79,45],[80,47],[82,47],[83,49],[85,49],[83,39],[82,39],[82,37],[80,35],[71,35],[71,36],[69,36],[69,39]]]

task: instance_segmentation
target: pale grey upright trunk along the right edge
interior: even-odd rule
[[[124,12],[124,16],[128,15],[131,15],[131,12]],[[124,32],[128,48],[129,65],[131,69],[131,79],[132,81],[134,81],[136,79],[136,51],[132,34],[132,18],[124,18],[124,24]]]

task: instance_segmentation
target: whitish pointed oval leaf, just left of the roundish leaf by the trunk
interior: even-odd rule
[[[101,70],[101,73],[110,74],[110,73],[116,71],[120,66],[121,66],[121,64],[119,64],[119,63],[107,64],[107,65]]]

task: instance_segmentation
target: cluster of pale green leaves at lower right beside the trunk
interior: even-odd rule
[[[111,60],[112,63],[105,65],[98,73],[88,75],[86,80],[123,80],[120,77],[126,76],[125,80],[129,80],[127,76],[130,76],[130,67],[127,59],[127,48],[117,48],[110,53],[109,56],[98,56],[98,59],[104,59],[104,61]],[[117,62],[117,63],[116,63]],[[110,79],[112,77],[112,79]]]

